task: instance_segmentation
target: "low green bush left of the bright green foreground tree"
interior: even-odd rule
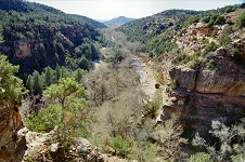
[[[29,114],[26,126],[30,131],[48,133],[61,123],[61,107],[48,106],[41,108],[38,114]]]

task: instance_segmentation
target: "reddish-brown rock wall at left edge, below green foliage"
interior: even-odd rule
[[[0,106],[0,161],[12,162],[16,159],[17,131],[21,126],[18,104]]]

